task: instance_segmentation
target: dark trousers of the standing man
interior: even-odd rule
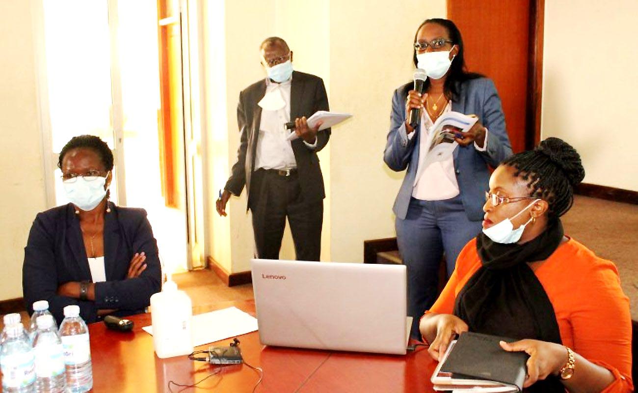
[[[279,259],[279,249],[290,224],[296,259],[318,261],[321,254],[323,199],[304,201],[297,171],[282,176],[277,171],[259,169],[251,180],[251,212],[255,232],[256,257]]]

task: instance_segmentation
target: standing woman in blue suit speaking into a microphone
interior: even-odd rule
[[[445,252],[449,277],[463,246],[481,230],[489,166],[498,166],[512,148],[494,83],[464,70],[463,40],[454,22],[426,20],[414,45],[414,64],[427,73],[425,93],[412,90],[412,82],[394,91],[383,160],[394,171],[407,168],[393,211],[399,252],[408,267],[412,336],[419,338],[419,318],[436,299],[441,256]],[[411,109],[421,111],[417,127],[410,125]],[[421,143],[427,148],[433,123],[448,111],[479,120],[456,135],[452,155],[424,166]]]

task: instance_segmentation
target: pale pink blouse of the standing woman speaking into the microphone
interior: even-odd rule
[[[452,111],[452,102],[448,101],[441,114],[450,111]],[[427,135],[431,132],[433,125],[434,122],[427,111],[422,111],[419,127],[420,152],[427,151]],[[408,134],[408,139],[412,139],[415,132]],[[487,132],[483,148],[479,148],[476,143],[474,143],[474,147],[479,151],[486,150]],[[458,146],[456,148],[458,148]],[[419,166],[417,167],[417,176],[414,180],[412,196],[423,201],[441,201],[459,195],[459,184],[456,181],[456,173],[454,171],[454,155],[450,155],[445,160],[435,161],[429,164],[429,166],[423,167],[425,158],[425,154],[419,154]]]

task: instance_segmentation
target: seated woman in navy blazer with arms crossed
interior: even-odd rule
[[[73,137],[58,166],[72,203],[38,213],[33,222],[22,266],[27,310],[48,300],[58,323],[71,304],[89,323],[143,312],[161,288],[157,243],[145,210],[108,201],[110,149],[93,135]]]

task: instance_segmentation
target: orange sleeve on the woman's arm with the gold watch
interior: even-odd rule
[[[604,392],[632,392],[632,321],[616,266],[597,258],[580,274],[570,316],[574,351],[614,374]]]

